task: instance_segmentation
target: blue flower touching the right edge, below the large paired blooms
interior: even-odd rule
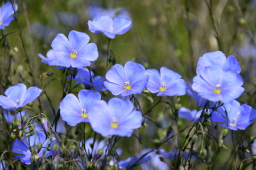
[[[240,103],[236,100],[224,104],[224,107],[219,107],[218,111],[213,112],[210,119],[213,122],[225,123],[225,127],[228,129],[245,130],[256,118],[256,110],[254,108],[247,104],[240,106]],[[226,117],[225,109],[228,112],[228,117]],[[224,126],[224,124],[220,125]]]

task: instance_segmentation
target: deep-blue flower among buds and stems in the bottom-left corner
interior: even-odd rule
[[[55,140],[55,138],[52,139]],[[30,147],[36,149],[36,145],[39,142],[42,143],[42,148],[40,150],[35,150],[35,153],[31,153]],[[22,154],[16,155],[14,159],[19,159],[24,164],[31,164],[30,158],[33,154],[35,154],[35,159],[42,158],[44,152],[46,152],[46,157],[52,155],[52,151],[46,150],[46,147],[48,147],[50,143],[49,139],[46,139],[46,135],[42,131],[38,131],[36,134],[29,137],[29,140],[27,137],[22,139],[22,142],[15,139],[13,146],[11,146],[11,151],[17,154]]]

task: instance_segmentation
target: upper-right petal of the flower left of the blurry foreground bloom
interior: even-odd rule
[[[101,94],[93,90],[81,90],[78,96],[82,108],[87,112],[90,111],[96,101],[101,100]]]

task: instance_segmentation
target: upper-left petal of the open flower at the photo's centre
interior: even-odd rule
[[[125,73],[123,66],[116,64],[113,67],[111,67],[109,71],[106,73],[106,79],[109,80],[109,82],[119,84],[120,86],[124,86]]]

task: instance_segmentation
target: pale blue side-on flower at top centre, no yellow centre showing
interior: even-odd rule
[[[89,30],[93,33],[104,33],[110,39],[114,39],[115,35],[122,35],[131,28],[131,21],[127,18],[115,18],[114,20],[108,15],[102,15],[89,20]]]

